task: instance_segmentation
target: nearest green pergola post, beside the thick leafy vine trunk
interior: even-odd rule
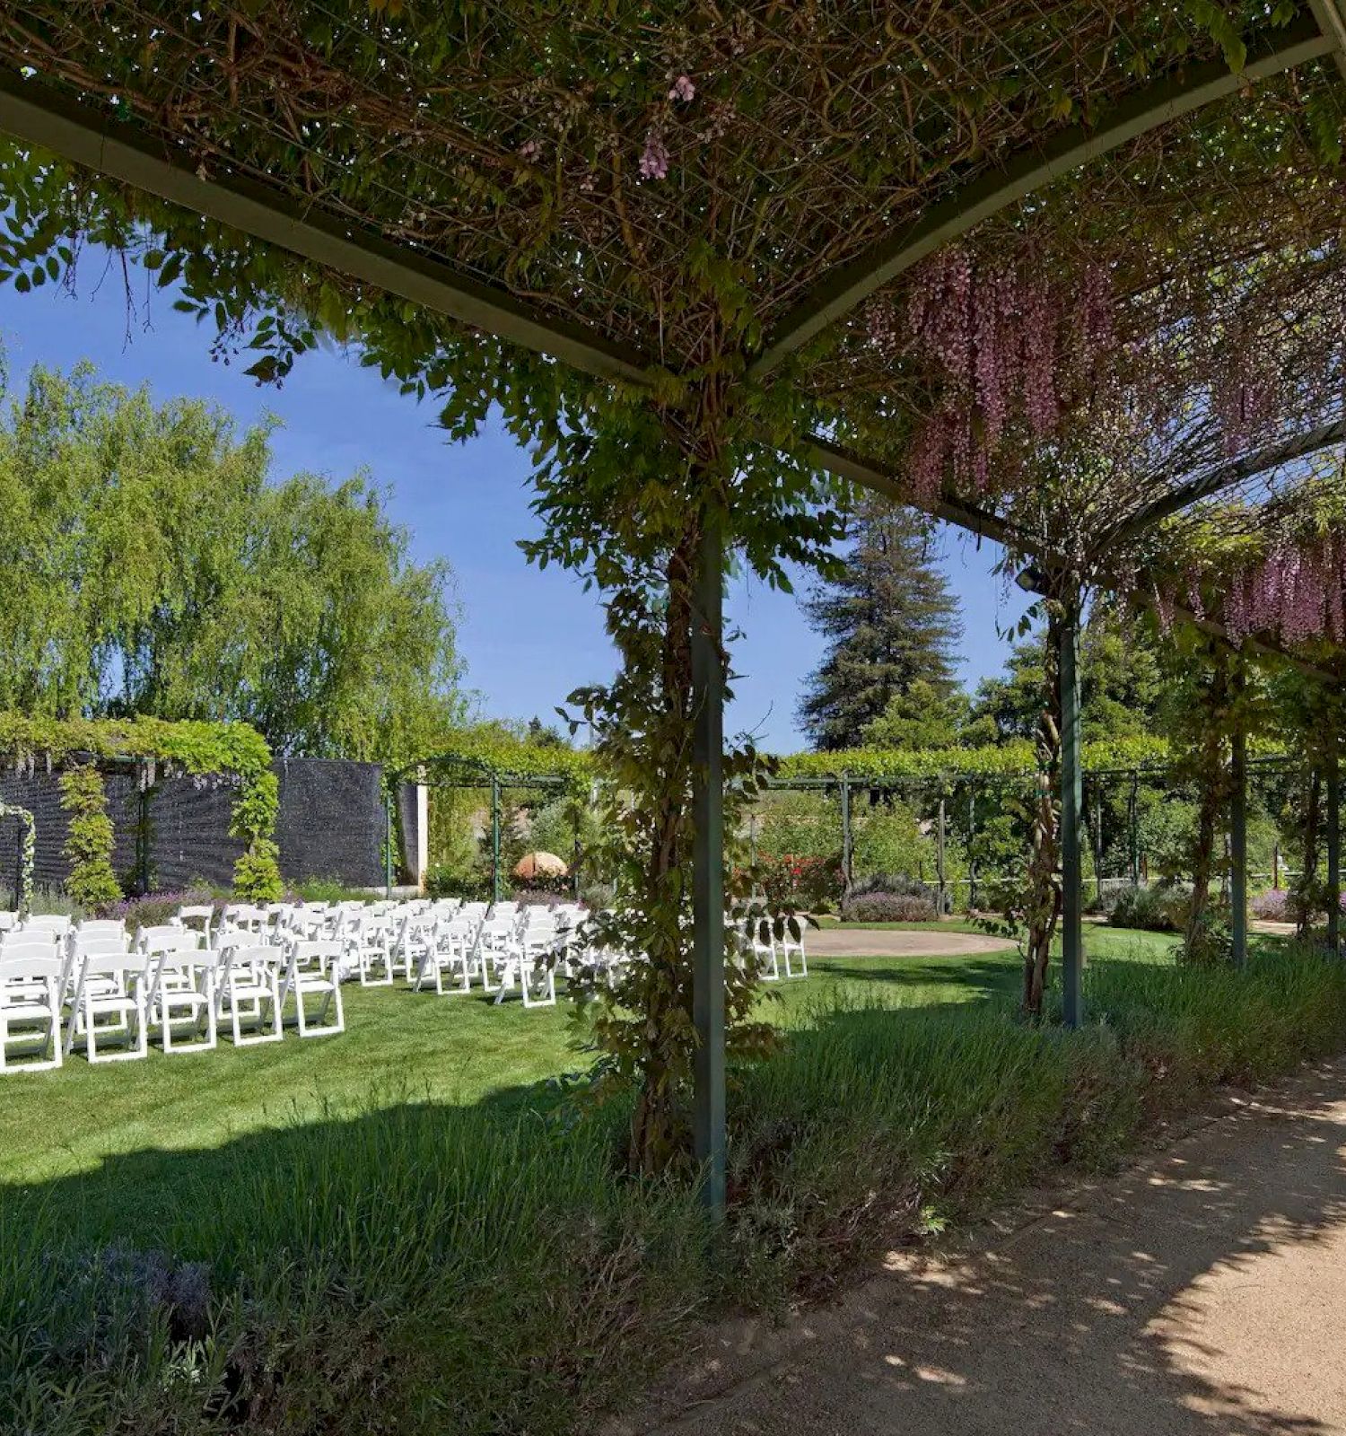
[[[702,1199],[725,1213],[725,540],[709,514],[692,613],[692,1022],[693,1139]]]

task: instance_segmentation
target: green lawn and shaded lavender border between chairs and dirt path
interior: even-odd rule
[[[350,988],[340,1038],[6,1078],[0,1430],[571,1436],[686,1350],[1053,1169],[1115,1165],[1220,1081],[1346,1043],[1346,968],[1088,933],[1081,1032],[1013,951],[837,958],[736,1074],[726,1228],[620,1176],[626,1107],[564,1008]]]

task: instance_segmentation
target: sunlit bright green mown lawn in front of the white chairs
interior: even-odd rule
[[[934,925],[931,925],[934,926]],[[946,928],[947,931],[947,928]],[[1158,961],[1175,939],[1091,929],[1092,958]],[[970,956],[822,958],[806,982],[765,989],[762,1011],[782,1027],[811,1025],[838,1005],[880,999],[931,1007],[1013,1001],[1013,949]],[[346,1110],[405,1101],[496,1110],[535,1103],[537,1084],[581,1070],[564,1002],[525,1010],[481,992],[435,998],[397,988],[347,985],[340,1037],[90,1067],[72,1058],[57,1073],[14,1074],[0,1093],[0,1183],[47,1180],[96,1169],[125,1152],[217,1147],[248,1132]],[[165,1163],[168,1165],[168,1163]],[[139,1192],[131,1200],[151,1200]]]

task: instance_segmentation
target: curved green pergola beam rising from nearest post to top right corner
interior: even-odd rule
[[[1330,55],[1336,43],[1323,34],[1312,17],[1304,17],[1287,26],[1270,50],[1248,56],[1241,72],[1236,73],[1223,60],[1194,65],[1131,95],[1102,125],[1079,125],[1045,145],[1035,145],[996,172],[973,181],[946,202],[931,207],[914,225],[880,240],[822,279],[785,316],[749,368],[749,375],[761,378],[775,369],[786,356],[904,270],[1033,191],[1151,129],[1236,93],[1250,80],[1269,79],[1281,70]]]

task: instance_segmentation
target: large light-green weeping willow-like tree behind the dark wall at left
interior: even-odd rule
[[[461,715],[442,563],[364,475],[270,482],[268,426],[34,369],[0,424],[0,708],[241,719],[280,754],[425,751]]]

